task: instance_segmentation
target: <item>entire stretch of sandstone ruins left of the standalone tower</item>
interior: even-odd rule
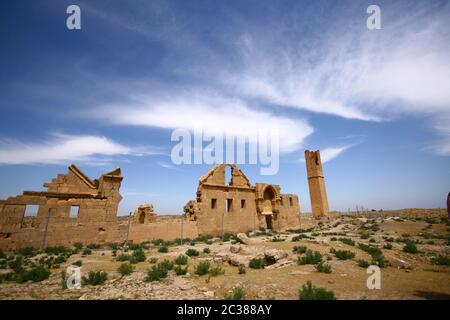
[[[300,225],[296,195],[281,194],[274,184],[252,186],[233,164],[220,164],[200,178],[197,198],[187,203],[184,216],[159,216],[153,205],[144,204],[130,216],[118,217],[122,179],[120,169],[115,169],[91,180],[71,165],[66,174],[44,183],[46,191],[0,200],[0,248],[192,239]]]

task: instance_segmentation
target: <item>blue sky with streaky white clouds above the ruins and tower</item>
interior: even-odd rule
[[[181,213],[207,165],[171,162],[174,129],[280,130],[278,183],[310,210],[305,149],[331,209],[444,207],[450,191],[450,4],[5,1],[0,198],[77,164],[121,167],[120,213]],[[66,28],[66,8],[82,28]]]

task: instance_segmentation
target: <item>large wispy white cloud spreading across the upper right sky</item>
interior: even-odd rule
[[[384,10],[378,31],[338,19],[305,38],[283,28],[244,34],[241,65],[222,80],[249,97],[350,119],[449,113],[449,6],[412,11]]]

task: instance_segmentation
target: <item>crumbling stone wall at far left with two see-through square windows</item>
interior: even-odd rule
[[[121,181],[118,169],[92,182],[72,165],[66,175],[59,174],[44,184],[47,191],[25,191],[8,198],[0,212],[0,247],[115,241],[120,237],[116,215],[122,199]],[[39,206],[37,214],[26,217],[26,208],[31,205]]]

